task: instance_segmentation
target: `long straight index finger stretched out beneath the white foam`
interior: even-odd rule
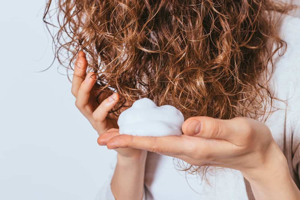
[[[136,148],[158,154],[182,158],[193,157],[201,160],[227,158],[234,152],[233,145],[217,139],[195,138],[191,136],[147,137],[121,134],[107,141],[107,148]]]

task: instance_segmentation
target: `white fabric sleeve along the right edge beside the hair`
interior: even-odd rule
[[[281,148],[291,176],[300,188],[300,19],[286,16],[280,37],[287,45],[285,53],[275,62],[277,92],[281,94],[279,98],[287,103],[283,105],[285,121]]]

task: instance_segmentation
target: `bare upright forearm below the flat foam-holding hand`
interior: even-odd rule
[[[116,200],[141,200],[144,190],[144,175],[147,151],[140,159],[119,156],[111,181],[111,190]]]

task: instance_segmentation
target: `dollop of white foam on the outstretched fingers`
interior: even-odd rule
[[[148,99],[135,101],[118,119],[119,133],[134,136],[180,136],[182,113],[171,105],[156,106]]]

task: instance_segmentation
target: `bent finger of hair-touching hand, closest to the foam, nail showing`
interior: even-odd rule
[[[97,107],[97,109],[93,112],[93,118],[95,121],[99,123],[98,126],[105,126],[105,119],[107,117],[108,112],[116,105],[119,100],[119,94],[113,93],[110,97],[106,98],[101,102],[101,104]]]

